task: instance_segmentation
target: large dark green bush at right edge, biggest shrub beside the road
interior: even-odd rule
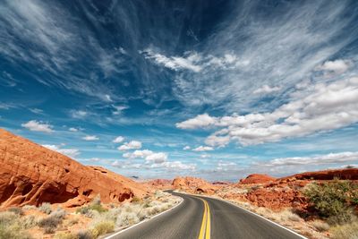
[[[311,184],[304,191],[320,217],[330,224],[343,224],[352,220],[352,196],[356,187],[347,181],[334,180],[324,184]]]

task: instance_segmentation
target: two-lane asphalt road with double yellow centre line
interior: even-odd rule
[[[304,238],[226,202],[172,192],[183,202],[110,239],[298,239]]]

